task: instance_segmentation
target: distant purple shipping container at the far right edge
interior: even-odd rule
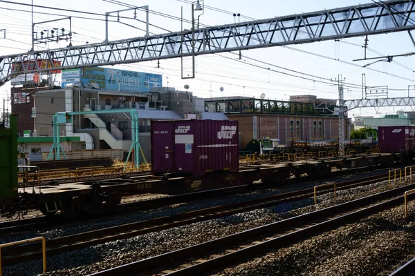
[[[380,126],[378,140],[380,152],[414,151],[415,127],[413,126]]]

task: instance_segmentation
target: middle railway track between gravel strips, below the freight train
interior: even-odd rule
[[[386,175],[365,177],[363,179],[353,179],[341,183],[339,182],[336,184],[336,187],[337,190],[346,190],[356,186],[376,183],[385,179],[387,179]],[[332,188],[322,189],[317,193],[317,195],[331,193],[332,191]],[[250,201],[243,201],[236,204],[228,204],[225,206],[216,206],[212,208],[194,210],[188,213],[181,213],[170,217],[158,217],[156,219],[150,219],[147,221],[138,221],[131,224],[123,224],[120,226],[93,230],[86,233],[48,239],[46,241],[46,255],[56,255],[70,250],[78,250],[87,246],[93,246],[95,244],[102,244],[118,239],[126,239],[129,237],[143,235],[145,233],[165,230],[167,228],[192,224],[197,221],[206,221],[209,219],[234,215],[236,213],[247,212],[249,210],[277,206],[279,204],[285,204],[288,202],[313,197],[313,193],[313,188],[307,188],[304,190],[296,190],[293,192],[273,195],[270,197],[262,197]],[[3,265],[18,264],[19,262],[42,257],[42,253],[38,250],[39,244],[26,244],[18,247],[4,248],[2,250]]]

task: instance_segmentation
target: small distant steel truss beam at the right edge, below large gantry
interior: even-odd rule
[[[415,97],[382,98],[382,99],[347,99],[344,101],[347,110],[353,108],[380,108],[387,106],[415,106]]]

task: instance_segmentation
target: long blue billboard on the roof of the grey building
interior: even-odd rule
[[[161,87],[163,78],[158,74],[102,67],[62,70],[62,87],[77,81],[97,83],[102,90],[137,93]]]

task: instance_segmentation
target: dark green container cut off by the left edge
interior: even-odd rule
[[[10,116],[10,128],[0,125],[0,203],[17,199],[17,116]]]

